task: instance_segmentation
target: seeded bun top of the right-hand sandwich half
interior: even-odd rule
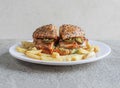
[[[80,27],[71,24],[63,24],[60,26],[59,33],[63,40],[85,36],[85,32]]]

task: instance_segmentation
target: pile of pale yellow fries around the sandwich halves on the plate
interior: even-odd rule
[[[93,57],[99,51],[98,46],[90,45],[89,42],[85,43],[86,45],[82,48],[77,49],[75,54],[61,56],[57,52],[50,54],[42,53],[42,50],[37,50],[33,42],[23,41],[21,46],[17,46],[16,50],[23,53],[27,57],[45,60],[45,61],[78,61]]]

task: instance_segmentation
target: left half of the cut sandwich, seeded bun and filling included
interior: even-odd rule
[[[33,33],[33,42],[37,49],[42,49],[43,53],[51,54],[57,41],[57,28],[52,25],[44,25],[36,29]]]

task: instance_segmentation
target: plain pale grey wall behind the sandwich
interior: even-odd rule
[[[0,39],[31,39],[45,24],[81,26],[89,39],[119,40],[119,0],[0,0]]]

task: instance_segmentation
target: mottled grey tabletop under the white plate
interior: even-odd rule
[[[112,53],[75,66],[45,66],[16,60],[9,53],[19,40],[0,40],[0,88],[120,88],[120,41],[102,41]]]

